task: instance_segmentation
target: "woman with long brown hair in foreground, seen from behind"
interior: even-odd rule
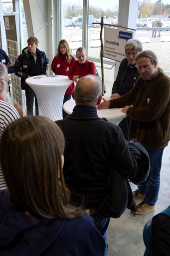
[[[0,192],[0,255],[103,256],[93,219],[69,204],[64,135],[44,116],[10,123],[0,141],[7,190]]]

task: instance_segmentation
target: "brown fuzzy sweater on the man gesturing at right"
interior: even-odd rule
[[[170,140],[170,77],[159,71],[151,80],[141,76],[130,92],[112,99],[109,108],[133,105],[130,138],[137,138],[147,149],[158,149]]]

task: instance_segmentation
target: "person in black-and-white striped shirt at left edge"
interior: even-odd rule
[[[11,100],[8,91],[9,84],[10,80],[8,79],[7,67],[0,62],[0,139],[6,126],[13,120],[19,118],[18,112],[10,104]],[[6,184],[0,164],[0,190],[4,188],[6,188]]]

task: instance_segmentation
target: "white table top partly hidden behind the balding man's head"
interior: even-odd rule
[[[109,100],[110,97],[104,96],[105,99]],[[75,100],[73,98],[66,101],[63,105],[64,111],[67,113],[72,113],[72,110],[75,106]],[[122,108],[106,108],[106,109],[97,109],[97,114],[100,118],[105,117],[108,120],[110,119],[117,119],[117,118],[124,118],[126,116],[125,113],[121,112]]]

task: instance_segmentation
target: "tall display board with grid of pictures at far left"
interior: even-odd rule
[[[16,33],[16,22],[15,15],[5,15],[4,26],[7,41],[8,57],[12,65],[18,57],[18,41]],[[13,94],[13,105],[17,109],[20,115],[23,115],[23,104],[22,104],[22,92],[20,86],[20,77],[14,73],[11,74],[12,83],[12,94]]]

